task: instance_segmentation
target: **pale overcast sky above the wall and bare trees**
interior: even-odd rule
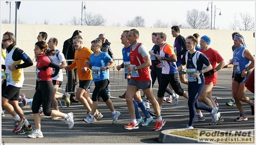
[[[10,5],[1,1],[1,20],[9,21]],[[211,10],[212,27],[214,26],[214,6],[216,8],[215,28],[230,29],[235,19],[240,19],[239,13],[250,13],[255,21],[255,1],[84,1],[86,12],[100,13],[107,19],[105,26],[120,23],[125,26],[136,16],[145,19],[145,26],[152,27],[157,19],[162,22],[172,21],[186,23],[188,10],[205,11],[207,6]],[[15,21],[15,1],[11,3],[11,23]],[[221,12],[221,16],[219,16]],[[21,1],[18,11],[19,20],[25,24],[70,24],[75,16],[81,19],[82,1]],[[211,12],[208,12],[209,17]]]

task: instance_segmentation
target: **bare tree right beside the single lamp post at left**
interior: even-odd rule
[[[101,14],[84,13],[83,23],[87,26],[104,26],[106,19]]]

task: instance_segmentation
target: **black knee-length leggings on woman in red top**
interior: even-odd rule
[[[54,95],[54,87],[51,81],[39,81],[37,90],[33,96],[32,112],[33,114],[39,113],[39,108],[42,104],[44,115],[51,115],[51,99]]]

